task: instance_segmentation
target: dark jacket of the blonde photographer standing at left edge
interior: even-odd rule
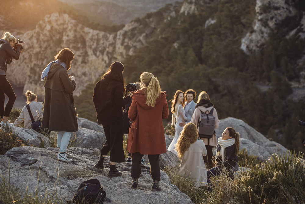
[[[19,59],[20,47],[17,47],[15,52],[9,42],[4,39],[0,40],[0,46],[0,69],[6,73],[7,65],[11,64],[13,59]]]

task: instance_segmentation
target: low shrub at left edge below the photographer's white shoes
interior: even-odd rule
[[[0,130],[0,155],[4,155],[7,151],[14,147],[26,146],[23,142],[16,137],[14,133],[6,131],[5,129]]]

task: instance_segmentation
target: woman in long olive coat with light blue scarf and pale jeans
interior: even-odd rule
[[[41,128],[58,132],[57,159],[72,162],[72,155],[66,152],[71,135],[78,130],[73,91],[76,88],[74,76],[68,75],[74,53],[65,48],[59,51],[55,60],[48,64],[41,74],[45,87],[45,106]]]

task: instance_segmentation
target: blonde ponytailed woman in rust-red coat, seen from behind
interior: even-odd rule
[[[162,119],[168,117],[166,92],[161,92],[160,84],[152,73],[140,76],[142,89],[133,93],[128,117],[132,121],[129,128],[127,150],[132,154],[132,189],[137,189],[142,172],[141,158],[148,155],[153,185],[152,191],[161,191],[159,156],[166,153]]]

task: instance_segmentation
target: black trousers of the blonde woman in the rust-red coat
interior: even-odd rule
[[[131,163],[131,177],[137,179],[142,173],[141,168],[141,158],[142,154],[140,152],[132,153],[132,163]],[[159,166],[159,155],[148,155],[148,160],[150,163],[150,174],[152,175],[153,180],[160,179],[160,166]]]

